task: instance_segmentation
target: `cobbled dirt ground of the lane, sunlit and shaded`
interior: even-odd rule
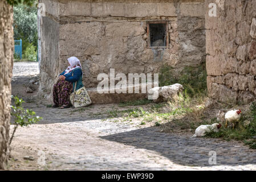
[[[19,127],[11,143],[9,170],[255,170],[256,152],[241,142],[192,138],[192,132],[164,133],[138,118],[113,117],[110,111],[137,106],[91,105],[80,109],[48,107],[36,96],[38,63],[14,63],[13,95],[43,118]],[[33,93],[26,93],[26,87]],[[141,106],[144,110],[152,104]],[[189,122],[189,121],[188,121]],[[12,133],[13,125],[11,125]],[[209,152],[217,163],[209,163]]]

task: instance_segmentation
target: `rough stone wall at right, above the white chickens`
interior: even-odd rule
[[[205,2],[206,10],[209,3]],[[256,95],[256,1],[221,0],[217,16],[206,11],[208,94],[222,102],[253,101]],[[223,4],[222,4],[223,5]]]

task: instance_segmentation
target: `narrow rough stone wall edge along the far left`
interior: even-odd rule
[[[0,169],[9,154],[11,75],[13,70],[13,9],[0,1]]]

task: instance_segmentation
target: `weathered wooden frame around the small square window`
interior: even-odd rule
[[[150,31],[149,31],[149,24],[165,24],[166,25],[166,46],[151,46],[151,38],[150,38]],[[160,49],[160,48],[164,48],[164,49],[168,49],[169,48],[169,21],[152,21],[152,22],[147,22],[147,48],[148,49]]]

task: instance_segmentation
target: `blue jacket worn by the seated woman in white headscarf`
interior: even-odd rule
[[[62,73],[60,73],[60,75],[64,75],[65,71],[63,71]],[[59,75],[59,76],[60,76]],[[83,77],[83,73],[82,73],[82,69],[81,68],[76,68],[74,70],[72,70],[72,72],[67,73],[66,75],[64,75],[66,78],[66,81],[72,82],[73,83],[73,92],[75,90],[75,82],[76,83],[76,90],[82,88],[83,82],[82,82],[82,77]]]

